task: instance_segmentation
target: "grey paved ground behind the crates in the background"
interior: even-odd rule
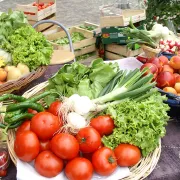
[[[57,20],[65,26],[77,25],[83,21],[99,23],[99,6],[115,1],[117,0],[57,0]],[[135,1],[137,0],[131,0],[132,3]],[[31,2],[33,0],[0,0],[0,11],[15,9],[16,4]]]

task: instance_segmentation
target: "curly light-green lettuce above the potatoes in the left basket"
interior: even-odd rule
[[[52,45],[31,26],[26,25],[15,30],[7,41],[2,44],[2,48],[12,54],[13,65],[23,63],[32,71],[50,63]]]

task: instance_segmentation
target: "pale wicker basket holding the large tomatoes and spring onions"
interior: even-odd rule
[[[48,82],[43,82],[32,89],[28,90],[23,94],[24,97],[29,98],[32,97],[44,90],[44,88],[48,85]],[[4,104],[8,104],[9,102],[4,102]],[[15,140],[15,130],[8,131],[8,149],[9,154],[16,165],[17,156],[14,152],[14,140]],[[150,153],[147,157],[142,158],[141,161],[135,166],[130,168],[130,176],[123,178],[123,180],[141,180],[145,179],[155,168],[157,162],[160,158],[161,154],[161,141],[159,141],[159,146],[154,150],[154,152]]]

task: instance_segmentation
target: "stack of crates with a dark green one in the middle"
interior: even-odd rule
[[[105,47],[105,59],[116,60],[137,56],[142,50],[138,45],[128,49],[128,37],[123,35],[122,28],[128,27],[130,18],[138,28],[139,22],[146,19],[145,10],[121,10],[121,15],[100,17],[101,39]]]

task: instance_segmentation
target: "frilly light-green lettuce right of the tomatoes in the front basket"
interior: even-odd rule
[[[102,142],[106,147],[115,149],[121,143],[139,147],[143,156],[147,156],[165,135],[165,126],[169,119],[169,106],[166,98],[156,92],[141,101],[124,100],[118,105],[109,106],[107,114],[114,119],[115,128]]]

